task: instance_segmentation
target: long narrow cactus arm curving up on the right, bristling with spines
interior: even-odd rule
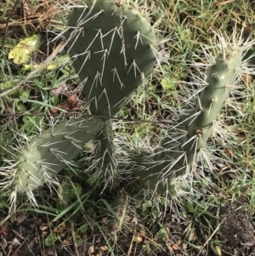
[[[220,54],[208,74],[207,85],[196,97],[195,108],[186,111],[178,124],[169,129],[161,148],[152,156],[142,153],[134,157],[137,165],[133,175],[140,185],[160,194],[174,193],[171,180],[194,169],[195,160],[212,133],[213,122],[235,86],[242,53],[241,48],[229,48]]]

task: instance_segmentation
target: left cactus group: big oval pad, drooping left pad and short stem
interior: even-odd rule
[[[90,111],[112,117],[150,75],[156,61],[156,35],[137,9],[107,0],[88,0],[82,5],[69,15],[67,48]],[[116,160],[111,121],[73,119],[42,131],[20,150],[13,166],[1,168],[1,174],[12,174],[3,182],[13,191],[12,202],[17,193],[24,192],[35,202],[32,191],[44,183],[56,184],[54,176],[65,165],[71,168],[71,161],[90,139],[99,142],[96,156],[105,179],[113,179]]]

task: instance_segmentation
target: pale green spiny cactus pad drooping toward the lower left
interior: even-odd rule
[[[80,117],[59,122],[42,131],[17,156],[11,189],[18,193],[31,192],[39,185],[52,182],[65,165],[71,166],[83,145],[93,139],[104,125],[99,117]]]

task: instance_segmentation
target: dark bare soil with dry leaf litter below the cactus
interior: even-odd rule
[[[114,245],[116,256],[121,255],[159,255],[159,256],[254,256],[255,255],[255,230],[252,220],[246,213],[246,202],[227,202],[220,208],[221,228],[216,234],[222,246],[219,252],[212,247],[196,250],[189,247],[185,230],[188,229],[189,219],[180,217],[178,212],[172,210],[164,218],[167,230],[167,239],[159,236],[160,227],[151,222],[151,216],[139,221],[126,219],[125,228],[118,232],[116,240],[111,239],[114,233],[107,220],[101,222],[105,235]],[[1,213],[1,219],[7,213]],[[139,216],[138,216],[139,217]],[[106,217],[104,217],[106,219]],[[149,220],[150,219],[150,220]],[[150,223],[149,223],[150,221]],[[54,223],[48,216],[35,213],[16,213],[0,227],[0,255],[9,256],[106,256],[111,255],[109,245],[99,230],[85,232],[78,236],[73,225],[69,223]],[[162,223],[162,219],[161,219]],[[129,228],[127,228],[127,226]],[[145,228],[146,227],[146,228]],[[150,233],[147,232],[148,229]],[[205,239],[202,237],[201,223],[194,230],[194,244],[203,246]],[[146,230],[147,229],[147,230]],[[54,236],[55,242],[51,238]],[[74,240],[77,240],[74,243]],[[153,245],[149,249],[148,245]],[[128,254],[129,253],[129,254]]]

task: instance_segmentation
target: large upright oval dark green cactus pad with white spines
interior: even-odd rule
[[[90,111],[113,117],[150,75],[156,35],[138,9],[109,0],[86,0],[68,19],[67,48]]]

